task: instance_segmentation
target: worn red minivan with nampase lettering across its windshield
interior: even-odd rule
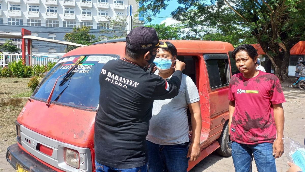
[[[227,97],[230,77],[237,69],[230,67],[230,43],[170,42],[177,47],[177,58],[186,64],[182,73],[192,78],[200,95],[201,154],[189,163],[190,170],[215,150],[231,155]],[[17,171],[95,171],[93,134],[99,73],[109,60],[124,57],[124,49],[123,39],[110,40],[77,48],[59,59],[16,120],[17,143],[7,148],[6,159]]]

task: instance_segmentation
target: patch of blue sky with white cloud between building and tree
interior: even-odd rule
[[[155,18],[152,20],[152,22],[149,22],[147,24],[161,24],[161,22],[166,22],[167,25],[177,23],[177,21],[174,21],[170,17],[164,18],[166,16],[170,16],[170,13],[177,9],[178,6],[181,6],[177,1],[172,0],[171,2],[167,2],[168,6],[166,10],[162,10],[160,13],[157,14],[156,17],[162,17],[162,18]]]

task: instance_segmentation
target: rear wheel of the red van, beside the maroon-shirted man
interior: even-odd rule
[[[228,157],[232,155],[232,140],[229,136],[229,121],[226,121],[224,123],[224,128],[222,129],[221,135],[218,139],[218,143],[220,145],[220,148],[218,148],[216,151],[219,155]]]

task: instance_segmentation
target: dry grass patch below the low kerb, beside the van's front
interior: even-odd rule
[[[0,143],[9,146],[16,143],[15,120],[23,107],[0,107]]]

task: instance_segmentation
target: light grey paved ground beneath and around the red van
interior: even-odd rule
[[[285,136],[289,136],[299,143],[304,142],[305,133],[305,91],[299,88],[289,88],[288,84],[282,84],[286,103],[283,103],[285,112]],[[1,128],[0,128],[1,129]],[[6,162],[5,153],[7,145],[0,143],[0,172],[13,172],[14,169]],[[288,169],[287,158],[283,155],[276,159],[278,172],[285,172]],[[199,164],[197,164],[191,172],[234,172],[232,158],[224,158],[216,153],[212,153]],[[253,172],[256,172],[255,162],[253,161]]]

